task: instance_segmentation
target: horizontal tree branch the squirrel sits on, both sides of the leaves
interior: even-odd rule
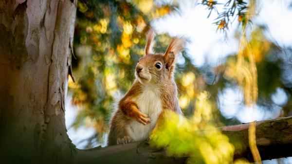
[[[220,128],[235,146],[234,159],[253,161],[248,141],[249,124]],[[262,160],[292,156],[292,117],[256,123],[256,145]],[[184,164],[187,157],[167,155],[146,142],[78,150],[78,164]]]

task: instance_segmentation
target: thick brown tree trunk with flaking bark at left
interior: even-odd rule
[[[0,159],[63,163],[76,0],[0,0]],[[4,162],[4,163],[5,163]]]

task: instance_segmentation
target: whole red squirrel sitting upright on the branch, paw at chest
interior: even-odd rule
[[[147,139],[165,110],[182,114],[173,74],[184,39],[173,38],[162,54],[152,50],[154,36],[152,30],[146,34],[145,56],[137,63],[136,79],[111,118],[109,146]]]

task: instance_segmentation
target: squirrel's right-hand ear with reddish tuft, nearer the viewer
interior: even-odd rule
[[[183,51],[185,40],[182,37],[175,37],[172,39],[171,43],[168,45],[163,58],[166,63],[166,69],[169,71],[173,67],[174,60],[177,54]]]

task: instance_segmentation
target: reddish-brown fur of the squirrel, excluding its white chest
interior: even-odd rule
[[[139,111],[138,105],[135,102],[135,98],[142,93],[142,89],[146,86],[155,86],[155,89],[159,91],[162,113],[165,110],[173,110],[176,113],[182,114],[173,73],[176,55],[183,50],[184,41],[182,38],[176,37],[171,41],[164,54],[153,54],[151,45],[153,37],[154,32],[149,31],[146,39],[146,55],[139,60],[136,67],[137,70],[142,68],[142,71],[139,73],[138,71],[135,72],[136,79],[132,87],[120,100],[118,110],[111,119],[108,145],[131,142],[126,128],[133,119],[144,125],[150,122],[150,118]],[[158,62],[162,65],[161,69],[155,67],[155,64]],[[157,120],[157,122],[160,122],[160,125],[163,121],[162,113]]]

